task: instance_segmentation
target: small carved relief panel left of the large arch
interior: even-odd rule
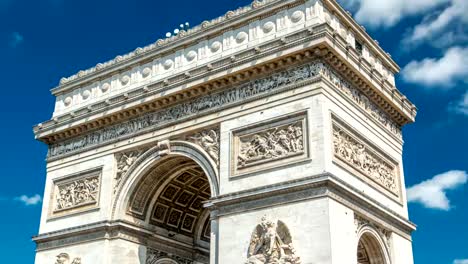
[[[67,209],[77,205],[97,201],[99,188],[98,177],[80,179],[58,187],[57,206],[55,210]]]

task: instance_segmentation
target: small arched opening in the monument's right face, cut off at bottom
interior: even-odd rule
[[[378,234],[367,230],[362,233],[357,246],[358,264],[390,264]]]

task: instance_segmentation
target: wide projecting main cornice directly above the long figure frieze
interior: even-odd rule
[[[291,53],[281,58],[274,58],[254,67],[240,69],[253,59],[268,57],[279,51],[291,49],[296,46],[304,46],[304,43],[316,42],[316,45],[306,47],[303,50]],[[197,98],[203,94],[220,91],[234,84],[255,79],[267,75],[278,69],[287,68],[304,61],[322,58],[333,65],[341,74],[348,78],[354,85],[366,93],[375,103],[385,110],[399,125],[414,121],[416,108],[394,86],[385,81],[376,71],[357,55],[353,48],[333,34],[333,30],[326,24],[313,28],[306,28],[285,36],[281,40],[273,40],[261,46],[243,50],[234,54],[231,58],[222,58],[216,62],[202,65],[193,71],[174,76],[170,79],[158,81],[144,87],[137,88],[122,95],[117,95],[94,105],[78,109],[75,112],[56,117],[34,128],[36,138],[47,144],[60,142],[76,135],[94,131],[114,123],[128,120],[134,116],[168,107],[186,100]],[[351,63],[350,63],[351,62]],[[353,65],[354,64],[354,65]],[[237,68],[229,75],[221,78],[206,80],[207,76]],[[190,86],[190,83],[198,81],[201,84]],[[185,87],[176,92],[167,92],[177,87]],[[153,100],[146,100],[133,107],[120,111],[123,106],[144,101],[153,96]],[[105,113],[110,113],[105,115]],[[96,115],[104,115],[92,118]],[[84,121],[76,124],[76,121]]]

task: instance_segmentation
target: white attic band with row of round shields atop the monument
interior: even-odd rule
[[[63,115],[74,115],[116,96],[126,97],[138,87],[189,78],[203,71],[203,66],[216,67],[220,58],[231,59],[239,52],[258,50],[271,40],[323,23],[345,41],[347,49],[357,51],[363,63],[395,86],[393,75],[399,70],[396,63],[336,1],[263,0],[63,78],[52,90],[57,96],[54,118],[60,120]],[[361,51],[356,49],[356,39],[362,44]]]

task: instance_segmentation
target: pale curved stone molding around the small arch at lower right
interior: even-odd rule
[[[356,258],[358,255],[359,243],[365,247],[370,263],[369,264],[392,264],[389,249],[381,234],[371,225],[364,225],[358,230],[355,243]]]

